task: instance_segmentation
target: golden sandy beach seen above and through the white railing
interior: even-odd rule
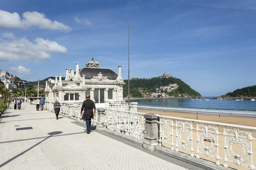
[[[179,117],[179,118],[187,118],[187,119],[196,119],[197,117],[197,114],[196,113],[184,113],[184,112],[174,112],[174,111],[156,111],[156,110],[144,110],[144,109],[138,109],[137,110],[138,112],[142,112],[142,113],[157,113],[157,114],[161,114],[163,116],[173,116],[173,117]],[[244,126],[251,126],[251,127],[256,127],[256,118],[255,117],[242,117],[242,116],[221,116],[219,117],[218,115],[204,115],[204,114],[201,114],[201,113],[198,113],[198,119],[199,120],[204,120],[204,121],[211,121],[211,122],[221,122],[221,123],[228,123],[228,124],[234,124],[234,125],[244,125]],[[193,144],[192,144],[192,147],[194,150],[196,150],[197,148],[197,142],[196,142],[196,136],[197,136],[197,132],[195,130],[195,127],[196,127],[196,123],[193,122],[193,127],[194,127],[194,130],[193,130],[193,133],[192,133],[192,136],[193,136]],[[175,127],[174,127],[175,129]],[[218,127],[218,130],[219,132],[223,132],[223,127]],[[174,130],[175,131],[175,130]],[[167,131],[164,131],[164,133],[168,136],[167,134]],[[215,136],[214,133],[212,133],[213,136]],[[252,136],[254,138],[256,138],[256,131],[252,131]],[[182,138],[185,139],[185,135],[181,136]],[[227,139],[229,139],[230,136],[227,136]],[[244,139],[247,144],[249,144],[248,140],[247,139]],[[176,143],[176,139],[175,139],[175,132],[174,132],[174,141]],[[171,144],[165,144],[165,143],[162,143],[163,146],[165,147],[169,147],[171,148]],[[210,142],[204,142],[204,144],[206,145],[206,147],[210,147]],[[225,153],[225,150],[224,150],[224,136],[223,135],[218,135],[218,149],[219,149],[219,156],[221,158],[224,158],[224,153]],[[253,162],[256,162],[256,141],[254,140],[252,142],[252,147],[253,147]],[[174,149],[176,149],[174,147]],[[183,153],[188,153],[190,154],[191,152],[189,150],[183,150],[182,148],[178,148],[178,150],[180,152],[183,152]],[[239,155],[242,155],[242,147],[238,144],[235,144],[233,145],[233,151],[236,153],[236,154],[239,154]],[[216,152],[213,153],[213,155],[215,156],[216,155]],[[196,156],[196,153],[194,151],[194,156]],[[216,162],[216,159],[214,157],[207,157],[207,156],[204,156],[203,154],[199,154],[200,158],[202,159],[207,159],[209,161],[213,161],[213,162]],[[244,156],[244,159],[246,159],[247,157],[247,154]],[[231,160],[228,156],[227,158],[229,160]],[[219,160],[220,164],[224,164],[224,161],[223,160]],[[249,165],[250,161],[247,161],[245,164]],[[236,164],[233,164],[233,163],[227,163],[229,167],[232,167],[232,168],[235,168],[235,169],[238,169],[238,170],[249,170],[248,167],[243,167],[243,166],[237,166]],[[255,163],[254,163],[255,164]],[[255,165],[254,165],[255,166]]]

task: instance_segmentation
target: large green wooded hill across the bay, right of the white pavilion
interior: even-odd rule
[[[128,96],[128,80],[124,80],[126,83],[123,87],[123,96]],[[176,83],[179,87],[173,91],[168,93],[169,96],[201,96],[197,91],[190,88],[185,82],[181,81],[181,79],[177,79],[174,77],[170,78],[152,78],[152,79],[132,79],[130,80],[130,95],[132,97],[142,97],[142,94],[139,90],[142,90],[143,93],[154,92],[156,88],[159,88],[161,85],[166,86],[169,84]]]

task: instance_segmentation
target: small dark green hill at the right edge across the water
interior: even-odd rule
[[[243,95],[243,97],[256,97],[256,85],[249,86],[246,88],[236,89],[232,93],[229,92],[223,95],[223,97],[237,97],[237,96],[240,97],[241,95]]]

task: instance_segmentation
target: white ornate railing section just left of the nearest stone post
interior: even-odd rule
[[[145,135],[144,114],[105,108],[105,127],[143,139]]]

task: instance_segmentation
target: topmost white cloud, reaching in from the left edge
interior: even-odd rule
[[[58,21],[49,20],[45,14],[41,14],[37,11],[24,12],[22,19],[17,12],[10,13],[0,10],[0,27],[4,28],[29,28],[37,26],[41,29],[71,31],[71,27],[59,23]]]

